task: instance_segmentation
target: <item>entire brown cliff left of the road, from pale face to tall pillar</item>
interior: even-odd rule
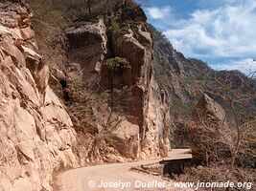
[[[34,32],[24,2],[0,15],[1,190],[52,190],[59,169],[167,154],[170,108],[139,6],[63,31],[35,19]]]

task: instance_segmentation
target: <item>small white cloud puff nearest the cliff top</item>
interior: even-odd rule
[[[171,8],[168,6],[166,8],[147,8],[146,11],[149,13],[152,19],[163,19],[167,18],[171,13]]]

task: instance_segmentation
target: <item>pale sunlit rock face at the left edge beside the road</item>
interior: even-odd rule
[[[76,166],[72,121],[48,85],[31,13],[0,3],[0,190],[51,190],[52,173]]]

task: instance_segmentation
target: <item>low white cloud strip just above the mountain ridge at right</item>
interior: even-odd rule
[[[252,58],[244,58],[237,60],[228,60],[223,63],[211,65],[218,71],[222,70],[239,70],[244,74],[252,74],[256,72],[256,62]]]

